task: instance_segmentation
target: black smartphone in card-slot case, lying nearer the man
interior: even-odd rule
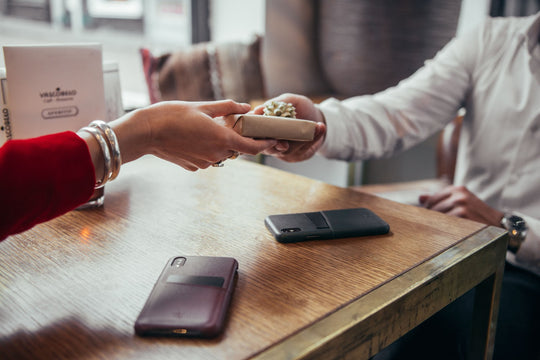
[[[264,223],[282,243],[383,235],[390,231],[383,219],[366,208],[270,215]]]

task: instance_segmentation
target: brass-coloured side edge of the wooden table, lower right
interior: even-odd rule
[[[367,358],[391,344],[400,336],[435,314],[481,281],[493,275],[504,263],[508,241],[503,229],[486,226],[464,238],[456,245],[411,270],[373,289],[367,294],[337,309],[281,342],[263,349],[253,359],[311,359],[331,358],[340,352],[367,354]],[[493,258],[496,261],[493,261]],[[463,264],[463,266],[458,266]],[[475,265],[476,264],[476,265]],[[485,264],[480,266],[478,264]],[[467,268],[473,267],[474,271]],[[456,281],[456,279],[461,281]],[[441,293],[434,280],[452,284],[447,292]],[[411,294],[431,296],[435,304],[414,314],[414,319],[405,315],[406,309],[416,303]],[[386,299],[382,303],[378,300]],[[446,301],[448,300],[448,301]],[[392,309],[383,314],[384,308]],[[409,329],[400,328],[390,336],[365,336],[365,329],[381,328],[381,319],[393,317],[395,321],[407,317]],[[396,327],[396,326],[394,326]],[[398,326],[399,328],[399,326]],[[364,335],[362,335],[364,334]],[[347,338],[344,340],[344,338]]]

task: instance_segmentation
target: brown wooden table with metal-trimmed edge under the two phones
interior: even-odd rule
[[[387,236],[280,244],[269,214],[367,207]],[[125,165],[105,205],[0,243],[2,359],[369,358],[477,286],[473,353],[490,357],[505,232],[244,160],[187,172]],[[231,256],[239,277],[213,340],[133,324],[175,255]]]

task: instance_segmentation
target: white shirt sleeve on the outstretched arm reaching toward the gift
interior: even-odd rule
[[[441,130],[465,103],[478,38],[454,38],[395,87],[321,103],[327,134],[319,152],[347,161],[389,157]]]

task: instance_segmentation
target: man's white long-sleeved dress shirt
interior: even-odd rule
[[[397,86],[320,104],[320,153],[386,157],[441,130],[461,107],[454,183],[525,219],[527,238],[507,260],[540,275],[540,13],[493,18],[454,38]]]

